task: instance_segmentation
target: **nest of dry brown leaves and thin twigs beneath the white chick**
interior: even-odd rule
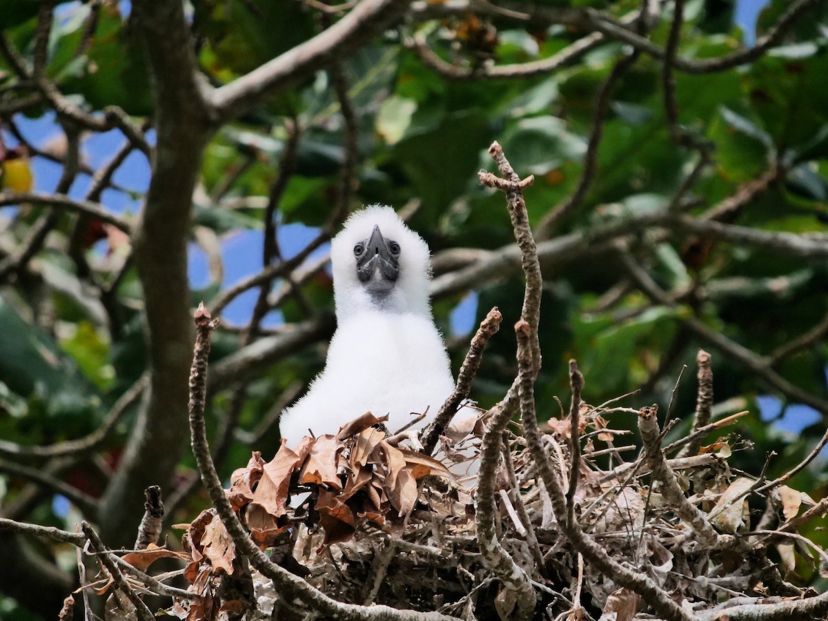
[[[644,408],[639,415],[645,410],[652,414]],[[779,486],[763,498],[765,507],[757,513],[753,501],[762,498],[749,504],[755,482],[729,468],[728,439],[700,447],[696,455],[667,459],[672,484],[686,502],[717,536],[733,536],[727,545],[720,539],[704,542],[665,493],[667,472],[653,474],[656,462],[647,455],[622,460],[632,447],[616,446],[625,432],[607,422],[610,413],[623,415],[619,412],[634,411],[581,407],[583,455],[572,495],[580,527],[616,561],[648,575],[693,614],[724,609],[734,598],[744,603],[801,597],[803,590],[787,581],[796,579],[793,565],[799,559],[818,566],[820,558],[795,550],[791,544],[797,540],[782,532],[791,530],[790,520],[801,507],[812,505],[810,498]],[[724,422],[730,420],[735,416]],[[339,601],[436,610],[464,619],[508,619],[512,608],[484,562],[476,534],[475,479],[465,486],[450,474],[450,469],[474,469],[474,461],[447,467],[394,446],[380,423],[363,416],[338,436],[306,438],[294,450],[282,445],[267,463],[254,454],[233,474],[227,490],[253,539],[262,549],[271,548],[282,566]],[[546,431],[547,453],[566,482],[570,421],[553,418]],[[444,460],[468,459],[469,451],[461,449],[479,445],[482,432],[483,426],[466,426],[461,439],[456,429],[444,436]],[[667,448],[676,452],[692,440]],[[585,563],[568,543],[524,444],[521,436],[508,434],[507,449],[504,440],[496,518],[501,545],[536,586],[536,617],[647,618],[647,602]],[[765,534],[749,534],[758,530]],[[190,590],[210,595],[218,605],[221,580],[215,578],[250,574],[213,513],[195,520],[187,537],[193,555],[186,573]],[[781,562],[771,561],[770,549]],[[247,609],[239,618],[270,618],[279,608],[278,595],[256,572],[248,580],[253,587],[247,605],[240,600],[230,605],[226,599],[222,605]],[[170,612],[182,616],[190,609],[179,602]]]

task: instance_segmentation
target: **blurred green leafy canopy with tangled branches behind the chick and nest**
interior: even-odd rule
[[[509,329],[471,397],[515,397],[527,266],[503,192],[480,183],[503,176],[493,141],[533,176],[538,419],[569,414],[576,359],[586,402],[657,402],[662,425],[680,419],[665,441],[686,436],[705,349],[713,415],[749,411],[730,466],[792,473],[818,501],[826,47],[820,0],[772,0],[749,34],[722,0],[5,2],[2,517],[84,519],[116,549],[153,485],[165,527],[209,506],[187,442],[200,301],[222,317],[205,397],[219,474],[274,455],[335,329],[328,241],[361,205],[393,205],[429,243],[455,373],[498,307]],[[32,181],[49,166],[55,185]],[[240,253],[257,267],[231,277]],[[611,423],[638,434],[635,416]],[[4,618],[53,618],[77,584],[74,546],[3,532],[0,556]],[[824,590],[796,563],[790,580]]]

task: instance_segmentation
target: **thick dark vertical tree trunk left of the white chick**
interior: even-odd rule
[[[130,543],[144,489],[166,488],[184,450],[192,343],[190,206],[213,120],[196,74],[182,2],[137,0],[132,7],[152,78],[157,133],[152,180],[132,234],[151,379],[121,465],[103,495],[107,520],[101,535],[116,546]]]

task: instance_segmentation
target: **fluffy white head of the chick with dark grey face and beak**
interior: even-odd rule
[[[333,239],[330,258],[340,321],[359,310],[430,314],[428,246],[391,207],[352,214]]]

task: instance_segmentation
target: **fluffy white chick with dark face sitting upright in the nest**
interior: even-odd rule
[[[431,317],[429,249],[391,207],[351,215],[333,239],[337,329],[325,369],[282,412],[282,438],[295,446],[313,431],[336,433],[365,412],[388,415],[389,431],[412,412],[436,416],[455,387]],[[420,423],[423,426],[425,421]]]

